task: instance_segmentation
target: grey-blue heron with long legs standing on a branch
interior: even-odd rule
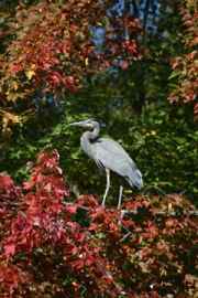
[[[94,129],[94,131],[86,131],[82,134],[81,147],[85,153],[88,155],[88,157],[90,157],[100,169],[106,170],[107,185],[102,205],[106,203],[107,194],[110,188],[110,171],[117,173],[120,178],[124,178],[132,188],[143,188],[141,171],[136,168],[133,160],[117,141],[108,138],[99,138],[95,143],[90,142],[90,140],[96,139],[100,134],[99,123],[88,119],[80,123],[69,124],[69,126],[82,126]],[[123,184],[120,183],[118,209],[121,205],[122,191]]]

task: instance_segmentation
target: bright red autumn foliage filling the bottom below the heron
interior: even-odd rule
[[[0,294],[196,297],[195,206],[178,194],[128,198],[125,213],[89,195],[69,203],[58,158],[42,150],[23,188],[0,177]]]

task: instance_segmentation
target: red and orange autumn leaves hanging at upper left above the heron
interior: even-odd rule
[[[38,91],[43,97],[47,93],[58,97],[64,92],[80,92],[81,77],[88,73],[100,72],[111,61],[127,67],[123,60],[144,54],[134,39],[125,39],[127,31],[141,32],[140,20],[131,15],[122,18],[118,11],[113,11],[110,20],[108,8],[113,3],[41,1],[29,8],[22,3],[15,8],[14,17],[6,21],[1,32],[6,46],[6,53],[0,55],[4,135],[10,135],[10,126],[22,126],[36,110],[28,102],[19,115],[9,103],[31,100]],[[91,29],[102,31],[103,51],[97,49]]]

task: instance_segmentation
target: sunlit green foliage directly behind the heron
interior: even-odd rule
[[[76,105],[78,100],[84,102],[86,98],[80,95],[75,102]],[[73,99],[70,96],[69,100]],[[26,173],[26,162],[35,161],[38,150],[53,143],[61,153],[59,162],[66,180],[77,184],[80,193],[102,195],[106,177],[100,175],[94,162],[81,151],[80,136],[84,130],[68,127],[72,121],[95,118],[101,123],[101,135],[118,140],[135,160],[143,173],[144,187],[156,185],[167,193],[185,193],[196,203],[198,132],[190,116],[190,107],[180,104],[169,106],[164,102],[155,108],[148,107],[141,117],[129,118],[128,115],[119,115],[119,109],[118,115],[108,114],[105,104],[107,105],[103,99],[101,103],[92,102],[92,107],[89,103],[86,113],[75,113],[75,105],[57,111],[57,107],[52,104],[54,109],[51,114],[51,126],[50,114],[43,114],[46,119],[37,115],[25,124],[23,135],[13,138],[10,145],[1,145],[1,169],[11,172],[20,183],[30,174]],[[90,113],[90,107],[95,109],[98,105],[103,107],[101,111]],[[40,119],[42,129],[35,125]],[[44,123],[47,125],[43,125]],[[113,175],[111,179],[110,193],[114,198],[118,195],[118,179]],[[127,183],[125,195],[132,192],[134,190]]]

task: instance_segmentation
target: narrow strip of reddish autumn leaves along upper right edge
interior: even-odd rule
[[[187,53],[180,53],[177,56],[172,66],[173,75],[172,77],[177,76],[178,84],[176,89],[168,97],[169,103],[172,104],[179,98],[184,103],[194,104],[195,119],[197,119],[198,114],[198,12],[196,9],[197,1],[180,1],[180,14],[183,17],[183,28],[184,28],[184,42],[187,50]]]

